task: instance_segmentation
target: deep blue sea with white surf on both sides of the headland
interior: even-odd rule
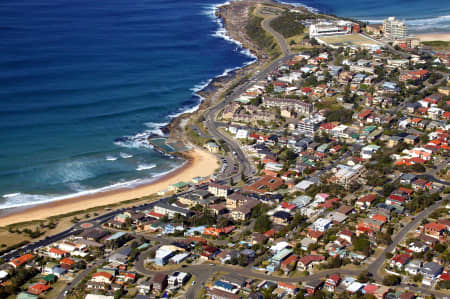
[[[303,3],[440,32],[450,31],[445,2]],[[194,92],[211,78],[254,59],[223,37],[216,4],[0,1],[0,208],[133,186],[179,167],[145,137],[195,109]]]

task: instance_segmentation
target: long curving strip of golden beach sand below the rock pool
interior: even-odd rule
[[[219,167],[216,156],[207,151],[194,149],[185,154],[189,157],[189,160],[183,167],[161,177],[152,184],[139,186],[134,189],[114,190],[34,206],[30,209],[0,217],[0,226],[31,220],[42,220],[55,215],[148,196],[165,190],[170,185],[180,181],[190,182],[194,177],[209,176]]]

